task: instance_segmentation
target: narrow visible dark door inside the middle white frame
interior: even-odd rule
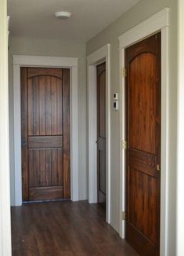
[[[98,202],[106,202],[106,63],[96,68]]]

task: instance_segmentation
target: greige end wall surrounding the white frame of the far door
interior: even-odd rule
[[[79,144],[79,199],[87,199],[86,168],[86,62],[85,44],[54,39],[11,38],[9,40],[9,124],[11,203],[15,202],[15,173],[13,152],[13,54],[52,57],[78,57],[78,141]]]

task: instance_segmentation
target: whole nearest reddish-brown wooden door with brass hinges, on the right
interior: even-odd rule
[[[126,239],[159,255],[161,187],[161,33],[125,50],[127,89]]]

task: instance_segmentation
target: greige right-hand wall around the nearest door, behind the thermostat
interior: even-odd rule
[[[177,1],[140,0],[105,30],[92,38],[86,47],[87,56],[96,49],[110,43],[111,105],[113,93],[119,92],[119,42],[117,37],[128,29],[146,20],[165,7],[170,8],[170,92],[169,92],[169,194],[168,194],[168,254],[175,255],[175,196],[176,196],[176,123],[177,123]],[[119,229],[119,112],[111,109],[111,225]],[[161,220],[163,221],[163,220]],[[166,238],[167,239],[167,238]]]

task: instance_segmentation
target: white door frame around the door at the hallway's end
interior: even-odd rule
[[[13,55],[15,205],[22,205],[21,67],[70,68],[70,192],[78,201],[78,58]]]

